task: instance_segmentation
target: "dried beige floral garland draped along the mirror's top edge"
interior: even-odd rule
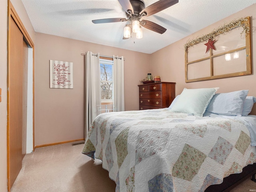
[[[237,20],[233,20],[228,24],[224,24],[219,26],[218,28],[212,30],[207,35],[199,36],[198,38],[194,40],[188,40],[188,42],[184,45],[185,52],[188,52],[188,48],[191,46],[194,46],[195,44],[204,42],[206,40],[213,40],[214,37],[218,36],[219,34],[223,34],[226,32],[229,32],[230,30],[236,28],[236,27],[243,27],[244,30],[241,32],[241,36],[244,34],[247,36],[250,32],[250,27],[247,24],[244,24],[245,21],[248,21],[248,18],[239,18]]]

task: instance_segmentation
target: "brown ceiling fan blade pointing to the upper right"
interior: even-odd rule
[[[158,13],[176,3],[178,3],[179,0],[159,0],[150,6],[146,7],[144,10],[140,12],[142,14],[143,12],[147,13],[147,16],[153,15],[155,13]]]

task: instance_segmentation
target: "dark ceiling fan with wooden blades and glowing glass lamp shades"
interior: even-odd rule
[[[142,0],[118,0],[118,2],[121,4],[122,8],[125,10],[127,18],[97,19],[97,20],[92,20],[92,22],[95,24],[99,24],[99,23],[130,21],[130,23],[126,24],[126,27],[124,27],[123,39],[128,39],[130,38],[132,32],[136,33],[136,38],[142,38],[141,26],[149,30],[152,30],[154,32],[163,34],[166,31],[166,28],[154,22],[144,20],[142,18],[156,14],[178,3],[179,0],[159,0],[146,8]]]

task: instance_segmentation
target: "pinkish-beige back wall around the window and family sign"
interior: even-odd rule
[[[84,56],[124,56],[125,110],[138,110],[138,84],[146,77],[150,55],[69,38],[36,33],[35,145],[84,138]],[[49,88],[49,60],[73,62],[73,89]]]

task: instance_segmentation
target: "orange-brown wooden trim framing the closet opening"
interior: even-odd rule
[[[28,45],[33,49],[33,151],[35,149],[35,145],[34,145],[34,43],[32,41],[32,39],[30,38],[26,28],[24,27],[20,17],[18,16],[16,10],[14,9],[14,6],[12,5],[12,3],[10,2],[10,0],[8,0],[8,16],[7,16],[7,24],[8,24],[8,28],[7,28],[7,188],[8,191],[10,192],[10,184],[9,184],[9,180],[10,180],[10,147],[9,147],[9,133],[10,133],[10,125],[9,125],[9,112],[10,112],[10,95],[9,95],[9,78],[10,78],[10,70],[9,70],[9,64],[10,64],[10,20],[13,19],[14,22],[16,22],[18,28],[20,29],[20,31],[23,34],[23,37],[26,39],[26,42],[28,43]]]

